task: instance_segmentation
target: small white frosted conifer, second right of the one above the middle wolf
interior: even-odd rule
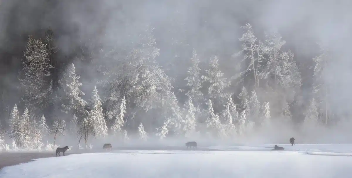
[[[233,104],[232,98],[229,97],[227,99],[225,110],[222,111],[222,117],[225,119],[224,128],[226,130],[227,136],[230,136],[230,137],[234,136],[236,133],[236,127],[233,124],[232,113],[236,113],[237,111],[233,111],[233,109],[236,109],[236,106]],[[237,112],[237,117],[238,117],[238,112]]]

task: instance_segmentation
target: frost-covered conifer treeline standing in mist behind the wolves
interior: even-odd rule
[[[201,60],[196,49],[185,66],[186,78],[171,77],[158,65],[160,49],[150,26],[134,36],[137,43],[92,42],[72,63],[61,65],[53,62],[59,49],[51,29],[44,38],[29,36],[18,77],[20,100],[8,109],[9,124],[2,126],[0,137],[34,148],[42,146],[44,136],[55,140],[70,134],[88,146],[90,137],[107,135],[233,139],[272,122],[329,124],[333,115],[324,75],[332,54],[322,49],[313,59],[313,90],[305,103],[301,69],[293,52],[282,49],[286,42],[280,34],[266,32],[260,40],[250,24],[242,29],[242,49],[224,64],[233,66],[230,77],[221,72],[218,56]],[[81,75],[93,79],[82,84],[77,65],[84,68]],[[180,80],[186,84],[175,82]],[[91,88],[89,100],[83,87]],[[293,108],[303,115],[295,115]]]

